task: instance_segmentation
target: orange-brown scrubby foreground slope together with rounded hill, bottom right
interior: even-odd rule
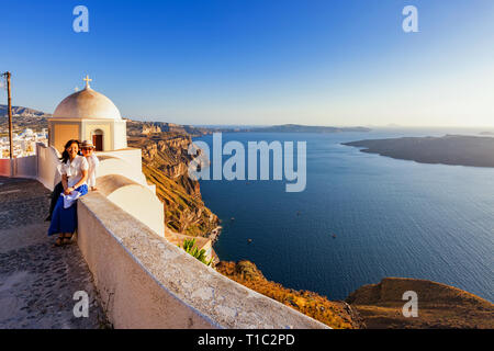
[[[460,288],[427,280],[385,278],[351,293],[345,302],[294,291],[268,281],[249,261],[220,262],[225,276],[338,329],[492,329],[494,305]],[[405,317],[403,294],[417,293],[417,317]]]

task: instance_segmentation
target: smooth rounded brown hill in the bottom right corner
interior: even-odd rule
[[[418,316],[404,317],[403,293],[417,294]],[[460,288],[406,278],[363,285],[347,298],[368,328],[494,328],[494,305]]]

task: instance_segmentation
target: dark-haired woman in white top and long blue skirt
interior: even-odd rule
[[[70,242],[77,228],[77,199],[88,193],[89,163],[79,156],[79,141],[68,140],[61,154],[61,185],[64,192],[57,200],[48,235],[59,234],[55,246]]]

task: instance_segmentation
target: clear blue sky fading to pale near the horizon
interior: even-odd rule
[[[89,33],[72,9],[89,9]],[[402,10],[418,9],[419,33]],[[492,0],[0,0],[14,104],[82,77],[125,117],[182,124],[494,126]],[[0,103],[5,103],[4,93]]]

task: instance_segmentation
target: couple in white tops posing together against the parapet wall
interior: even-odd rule
[[[82,151],[82,156],[79,154]],[[48,236],[58,234],[55,246],[70,242],[77,228],[77,199],[88,193],[88,186],[96,189],[98,157],[91,141],[68,140],[61,154],[61,182],[52,193]]]

